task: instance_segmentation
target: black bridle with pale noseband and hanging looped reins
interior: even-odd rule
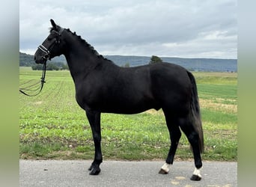
[[[60,43],[61,40],[60,40],[60,36],[61,36],[61,33],[64,31],[64,28],[60,28],[60,31],[53,31],[55,33],[58,34],[57,37],[55,37],[55,41],[51,43],[51,45],[49,45],[49,49],[47,49],[45,46],[43,46],[43,44],[41,44],[40,46],[38,46],[38,49],[40,49],[42,52],[44,52],[45,54],[43,55],[43,73],[42,73],[42,76],[41,76],[41,81],[40,81],[40,87],[39,88],[34,88],[34,86],[36,86],[37,84],[34,84],[34,85],[30,85],[28,87],[25,87],[25,88],[19,88],[19,92],[23,93],[24,95],[26,96],[37,96],[42,90],[43,90],[43,84],[46,83],[45,82],[45,78],[46,78],[46,61],[48,60],[51,60],[50,58],[50,54],[51,54],[51,50],[52,48],[55,46],[55,43]],[[37,93],[34,93],[34,94],[28,94],[28,93],[25,93],[25,91],[37,91]]]

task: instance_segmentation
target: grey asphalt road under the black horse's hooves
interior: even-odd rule
[[[91,161],[20,160],[19,186],[237,186],[237,162],[203,162],[201,181],[189,180],[193,162],[174,162],[169,174],[158,174],[163,163],[105,161],[91,176]]]

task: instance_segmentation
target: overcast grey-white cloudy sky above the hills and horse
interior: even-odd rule
[[[20,52],[34,55],[49,19],[101,55],[237,59],[234,0],[22,0]]]

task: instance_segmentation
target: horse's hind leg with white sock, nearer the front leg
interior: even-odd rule
[[[165,120],[166,120],[166,125],[168,127],[169,134],[170,134],[171,147],[170,147],[167,159],[165,161],[165,164],[162,165],[162,168],[159,171],[159,174],[168,174],[169,166],[172,165],[174,162],[174,155],[176,153],[177,145],[179,144],[180,136],[181,136],[179,126],[177,125],[177,123],[175,123],[174,118],[172,118],[171,115],[168,115],[166,112],[165,112]]]

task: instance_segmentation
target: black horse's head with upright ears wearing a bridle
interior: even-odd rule
[[[61,34],[64,28],[56,25],[52,19],[50,21],[52,23],[50,34],[46,37],[46,40],[38,46],[34,54],[34,61],[37,64],[44,64],[47,60],[62,54],[61,49],[63,44],[61,44]]]

